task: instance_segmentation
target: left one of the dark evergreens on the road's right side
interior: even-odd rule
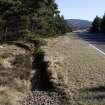
[[[90,31],[91,32],[100,32],[100,25],[101,25],[101,18],[96,16],[92,23],[92,27],[91,27]]]

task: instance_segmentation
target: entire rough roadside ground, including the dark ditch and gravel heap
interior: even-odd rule
[[[75,33],[46,40],[36,59],[27,48],[0,46],[0,105],[105,105],[105,57]]]

